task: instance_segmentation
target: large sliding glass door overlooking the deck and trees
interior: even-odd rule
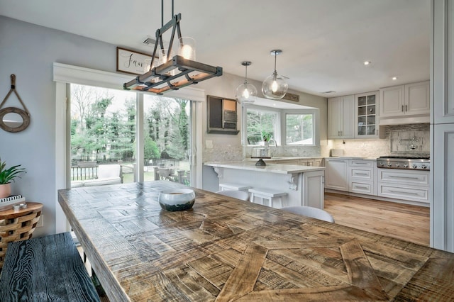
[[[71,187],[155,179],[191,185],[192,106],[71,84]]]

